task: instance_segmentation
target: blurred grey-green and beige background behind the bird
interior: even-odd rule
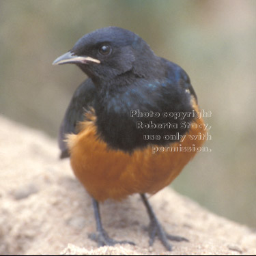
[[[51,63],[111,25],[182,66],[201,109],[212,111],[212,152],[198,154],[171,186],[256,227],[256,1],[0,0],[0,114],[56,138],[85,74]]]

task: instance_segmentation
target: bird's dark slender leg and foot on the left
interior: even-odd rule
[[[108,233],[106,233],[106,231],[104,231],[104,229],[102,227],[98,201],[96,201],[94,198],[92,198],[92,203],[94,205],[94,216],[95,216],[95,220],[96,220],[97,233],[89,234],[89,238],[91,238],[91,240],[98,242],[98,246],[104,246],[104,245],[113,246],[115,244],[132,244],[132,245],[134,245],[134,242],[130,242],[130,241],[126,241],[126,240],[116,241],[116,240],[113,240],[112,238],[110,238]]]

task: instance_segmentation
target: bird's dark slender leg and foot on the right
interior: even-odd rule
[[[167,248],[168,251],[171,251],[171,244],[169,243],[168,240],[173,240],[177,242],[188,242],[186,238],[182,238],[181,236],[171,236],[168,233],[166,233],[165,230],[160,225],[158,219],[156,218],[156,214],[154,214],[152,206],[150,205],[149,201],[147,201],[147,197],[145,196],[145,194],[141,194],[141,198],[145,207],[147,208],[147,213],[150,216],[150,246],[152,246],[152,244],[154,243],[156,236],[158,236],[158,238],[165,246],[165,248]]]

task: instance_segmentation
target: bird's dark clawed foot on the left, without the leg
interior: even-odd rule
[[[101,231],[97,231],[97,233],[89,234],[89,238],[91,240],[94,240],[95,242],[98,242],[99,247],[104,245],[114,246],[115,244],[135,245],[134,242],[130,242],[127,240],[122,240],[122,241],[113,240],[112,238],[109,237],[108,233],[104,231],[104,229],[102,229]]]

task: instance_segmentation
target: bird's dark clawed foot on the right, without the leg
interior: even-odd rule
[[[152,219],[150,221],[150,226],[148,228],[150,235],[150,246],[154,243],[156,236],[158,236],[159,240],[162,242],[162,245],[167,248],[167,251],[171,251],[171,244],[169,240],[176,242],[188,242],[186,238],[182,238],[182,236],[172,236],[165,232],[157,219]]]

